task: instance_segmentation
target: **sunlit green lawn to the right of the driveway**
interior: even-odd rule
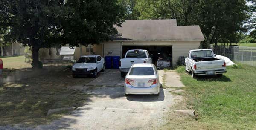
[[[256,130],[256,67],[229,66],[221,78],[196,79],[185,72],[184,66],[176,70],[186,86],[182,93],[184,108],[192,106],[199,119],[170,113],[163,130]]]

